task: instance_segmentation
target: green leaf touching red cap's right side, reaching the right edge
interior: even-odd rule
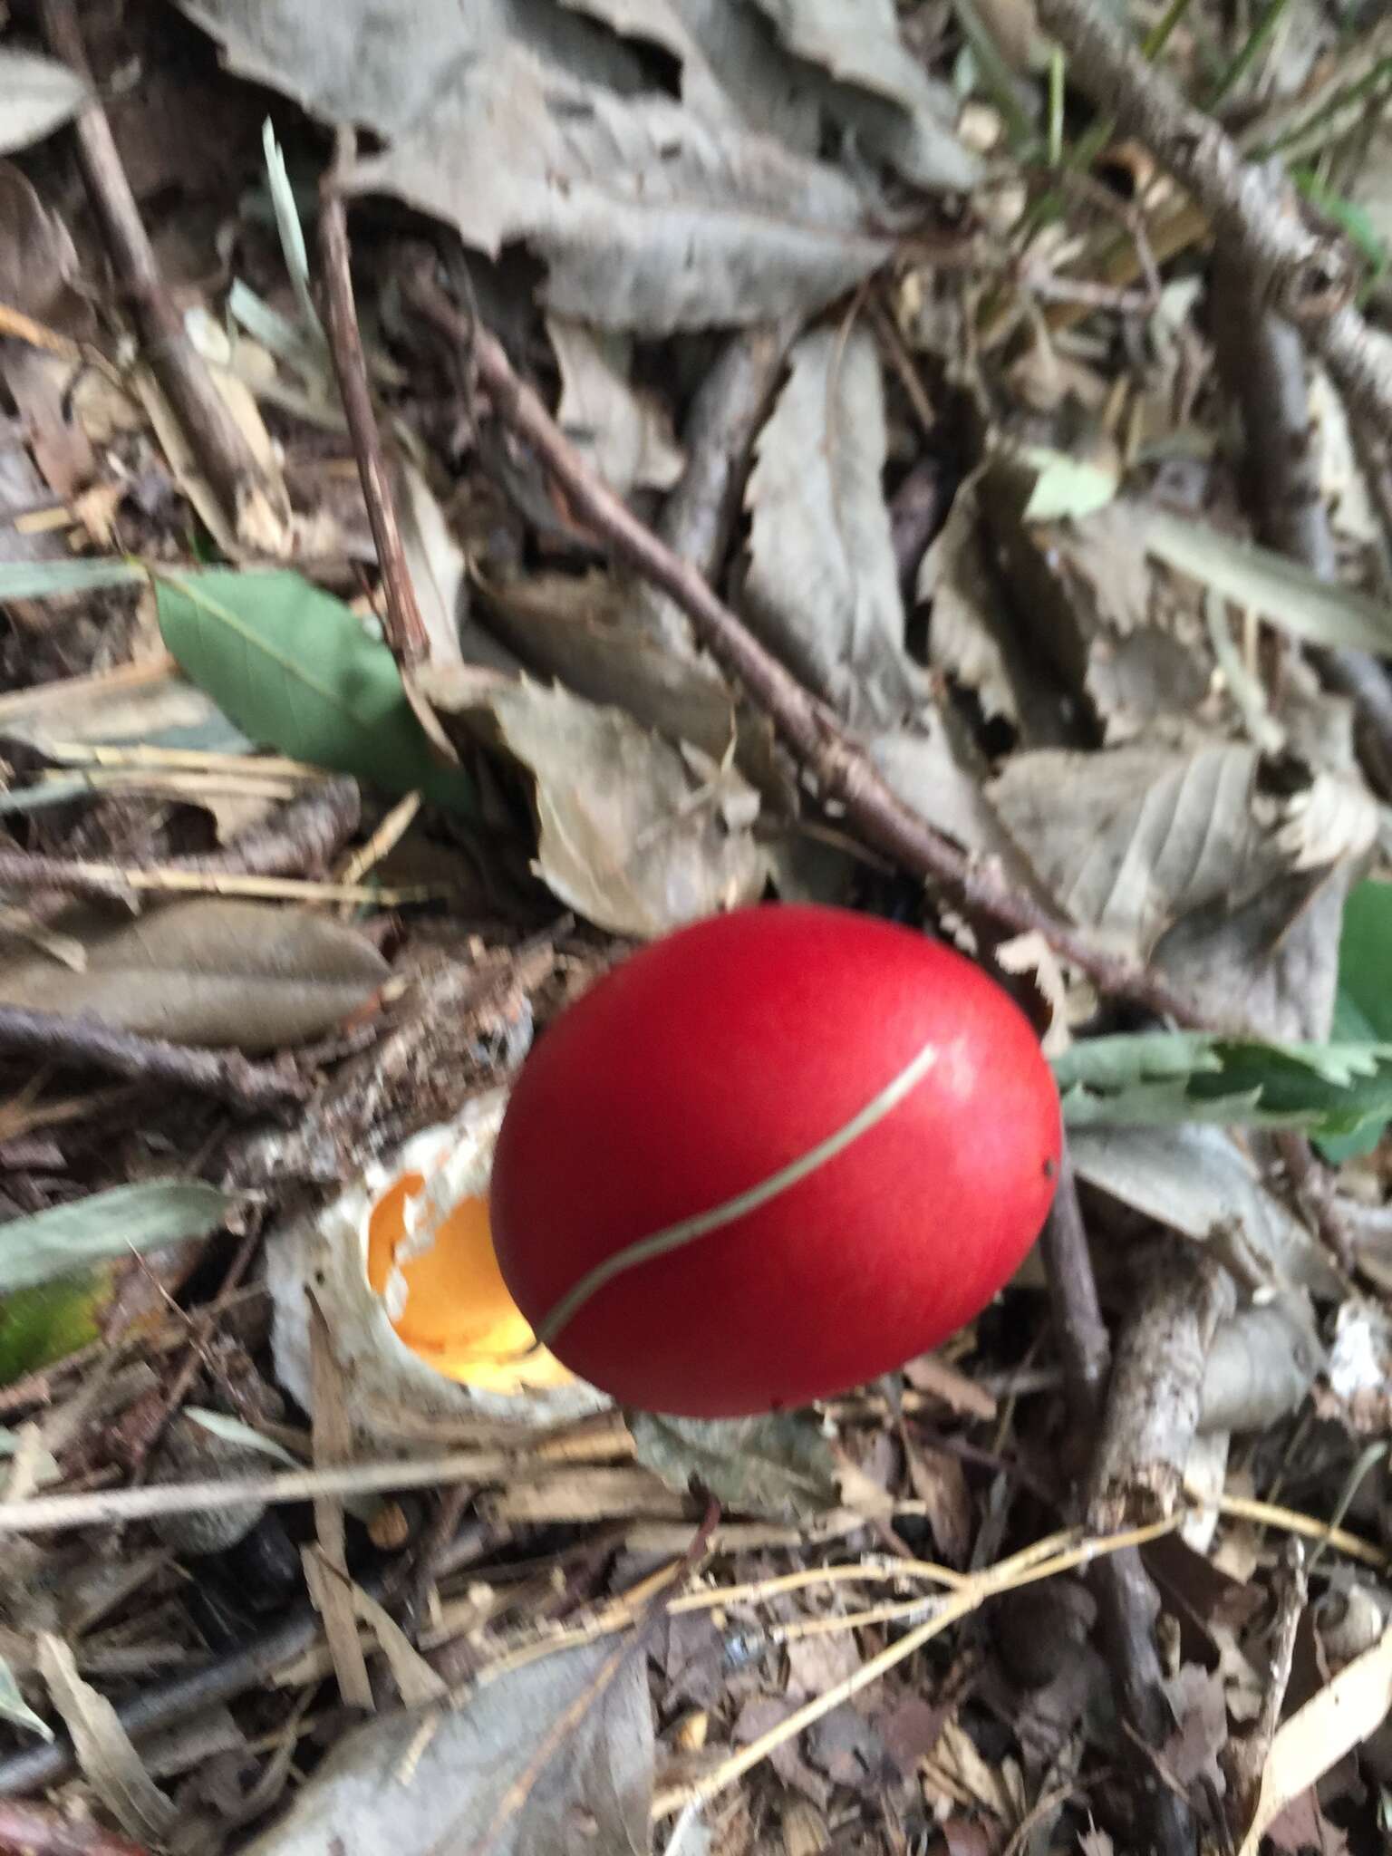
[[[1392,1114],[1392,1041],[1091,1038],[1054,1058],[1054,1078],[1069,1127],[1218,1121],[1346,1136]]]

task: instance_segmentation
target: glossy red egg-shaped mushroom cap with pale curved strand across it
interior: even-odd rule
[[[739,1416],[891,1372],[978,1314],[1058,1158],[1050,1069],[978,967],[874,917],[752,908],[635,954],[538,1041],[494,1244],[575,1373]]]

